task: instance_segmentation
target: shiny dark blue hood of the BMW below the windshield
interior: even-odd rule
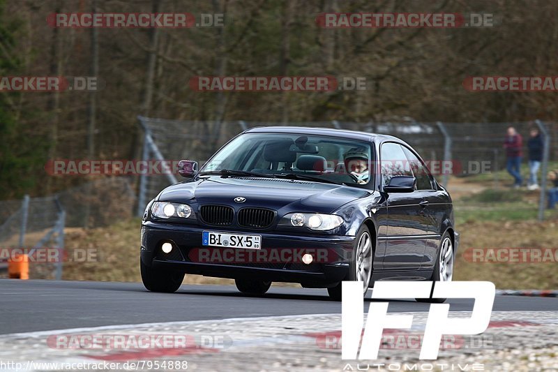
[[[368,195],[370,192],[361,188],[311,181],[211,176],[169,186],[161,191],[157,199],[190,204],[195,202],[232,207],[264,207],[277,211],[288,209],[331,213],[343,204]],[[234,202],[237,197],[246,198],[246,201]]]

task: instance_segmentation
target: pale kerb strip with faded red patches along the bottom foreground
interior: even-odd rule
[[[398,336],[403,342],[402,348],[382,348],[379,359],[373,361],[376,364],[417,362],[420,350],[414,346],[409,347],[405,341],[414,341],[412,337],[423,334],[428,313],[405,314],[414,316],[412,328],[390,334]],[[467,318],[470,315],[470,312],[451,313],[451,317],[454,318]],[[81,363],[81,369],[93,369],[95,364],[98,371],[112,369],[108,367],[110,363],[118,363],[120,370],[153,371],[154,362],[162,364],[169,361],[187,362],[188,371],[343,371],[347,370],[347,363],[341,360],[338,343],[340,328],[341,315],[326,314],[149,323],[8,334],[0,336],[0,363],[19,362],[22,366],[20,371],[68,370],[66,367],[71,363],[76,366]],[[483,364],[485,371],[495,371],[503,365],[502,358],[507,358],[506,353],[511,352],[514,354],[509,363],[513,369],[520,371],[523,370],[522,363],[525,361],[538,363],[529,359],[531,355],[535,355],[536,358],[536,355],[541,353],[555,355],[553,353],[558,352],[556,334],[558,311],[493,311],[490,326],[481,335],[483,338],[477,339],[483,342],[471,347],[471,340],[467,339],[458,343],[457,348],[441,348],[437,362],[461,363],[462,366],[467,364],[469,367],[473,364]],[[69,339],[72,336],[87,335],[121,335],[132,339],[138,335],[187,335],[192,336],[196,343],[186,347],[163,348],[138,348],[137,345],[126,348],[87,348],[86,345],[80,345],[78,348],[57,348],[49,342],[56,336]],[[212,338],[213,341],[218,339],[227,342],[198,344],[198,341],[204,338],[202,336],[205,339]],[[484,342],[487,340],[490,343]],[[496,358],[495,355],[500,356]],[[30,361],[33,363],[29,364]],[[128,368],[124,365],[126,362]],[[135,363],[135,368],[131,368],[130,362]],[[140,362],[144,364],[138,364]],[[151,362],[151,368],[148,368],[147,362]],[[44,363],[51,365],[47,366]],[[557,362],[550,358],[541,363],[541,366],[552,369]],[[354,366],[356,364],[353,363]],[[387,369],[397,371],[391,367]],[[535,368],[530,370],[537,369],[538,365],[535,365]],[[3,368],[3,371],[9,370],[9,367]]]

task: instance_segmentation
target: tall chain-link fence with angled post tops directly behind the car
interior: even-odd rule
[[[459,170],[453,175],[467,177],[478,174],[479,171],[490,172],[494,187],[508,183],[507,177],[501,177],[499,170],[506,168],[506,153],[503,148],[504,136],[509,126],[514,126],[524,139],[526,146],[529,129],[537,126],[542,133],[546,133],[548,141],[546,149],[554,149],[552,138],[558,134],[556,123],[543,124],[540,121],[525,121],[516,123],[421,123],[412,120],[403,121],[369,121],[355,123],[345,121],[322,122],[289,122],[270,123],[257,121],[185,121],[138,117],[144,129],[143,160],[151,158],[163,161],[179,161],[191,159],[202,165],[221,145],[242,131],[257,126],[308,126],[347,129],[395,135],[411,144],[425,161],[444,161],[459,164]],[[525,152],[527,149],[525,148]],[[556,158],[556,151],[548,151],[543,162],[541,177],[541,206],[545,197],[545,175],[548,161]],[[524,160],[527,153],[524,154]],[[482,167],[482,168],[481,168]],[[455,167],[454,167],[455,170]],[[174,171],[174,170],[173,170]],[[137,215],[143,214],[146,204],[163,188],[174,184],[179,179],[176,172],[172,174],[140,176],[138,191]],[[448,183],[449,174],[437,175],[442,184]],[[542,213],[542,212],[541,212]]]

